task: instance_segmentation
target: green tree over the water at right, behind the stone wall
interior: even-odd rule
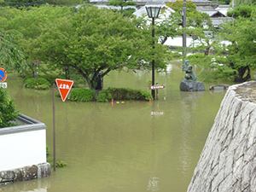
[[[256,32],[252,27],[255,25],[254,15],[250,19],[237,18],[224,25],[218,37],[212,39],[211,54],[189,56],[201,67],[200,76],[209,81],[250,79],[250,71],[256,66]]]

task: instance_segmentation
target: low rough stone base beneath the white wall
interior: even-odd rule
[[[49,163],[43,163],[37,166],[25,166],[19,169],[0,172],[0,185],[27,181],[40,177],[49,177],[49,175]]]

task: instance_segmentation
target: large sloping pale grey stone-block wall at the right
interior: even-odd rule
[[[230,86],[188,191],[256,191],[256,81]]]

